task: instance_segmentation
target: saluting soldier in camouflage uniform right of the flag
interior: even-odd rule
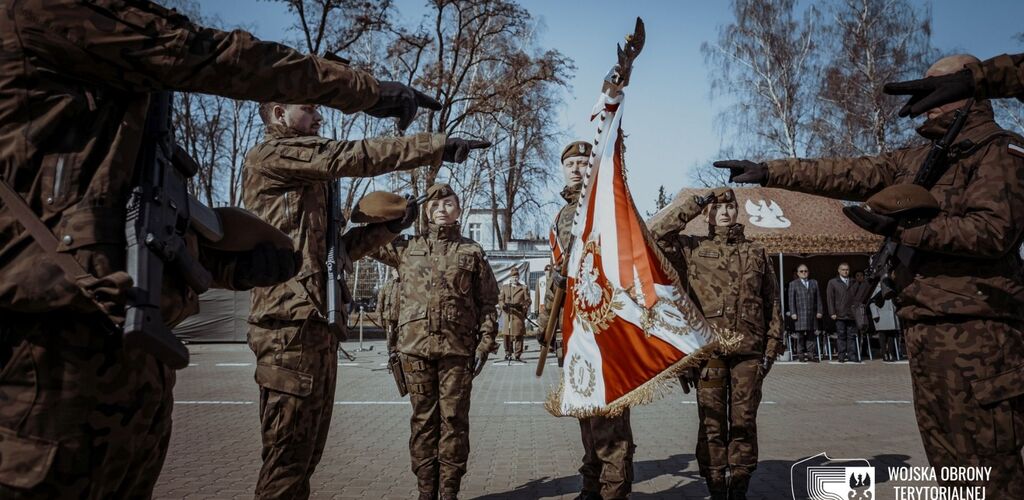
[[[682,234],[701,212],[708,236]],[[736,222],[736,196],[729,189],[693,197],[650,227],[658,246],[696,297],[710,324],[742,334],[729,356],[712,358],[698,373],[681,378],[695,383],[700,433],[697,463],[713,499],[746,498],[758,465],[758,406],[761,383],[782,341],[778,282],[764,248],[743,236]]]

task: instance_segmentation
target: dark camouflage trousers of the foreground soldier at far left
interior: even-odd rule
[[[96,324],[0,318],[0,498],[153,496],[174,371]]]

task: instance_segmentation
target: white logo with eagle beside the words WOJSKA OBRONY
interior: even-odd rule
[[[820,453],[793,464],[790,475],[794,500],[874,500],[874,467],[862,458]]]

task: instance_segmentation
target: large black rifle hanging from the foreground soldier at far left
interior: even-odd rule
[[[188,349],[161,317],[164,266],[170,265],[196,293],[205,292],[212,277],[188,252],[185,235],[194,230],[218,241],[223,233],[217,214],[188,195],[186,179],[199,165],[174,143],[172,97],[171,92],[154,92],[146,112],[125,220],[126,270],[133,285],[122,334],[125,346],[140,347],[177,370],[188,366]]]

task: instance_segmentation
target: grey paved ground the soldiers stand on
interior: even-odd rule
[[[528,341],[527,343],[534,344]],[[383,342],[338,370],[334,421],[312,477],[314,498],[415,498],[409,469],[408,400],[380,366]],[[352,350],[356,345],[347,343]],[[254,359],[242,344],[193,345],[179,372],[174,435],[158,498],[251,498],[260,465]],[[472,453],[462,498],[570,499],[583,447],[577,421],[548,415],[540,402],[556,380],[530,364],[494,364],[474,384]],[[877,498],[892,498],[886,466],[927,465],[904,363],[780,363],[765,382],[759,413],[761,463],[751,498],[791,498],[791,466],[825,452],[865,458],[877,468]],[[693,395],[676,391],[633,412],[635,499],[703,498],[693,457]]]

